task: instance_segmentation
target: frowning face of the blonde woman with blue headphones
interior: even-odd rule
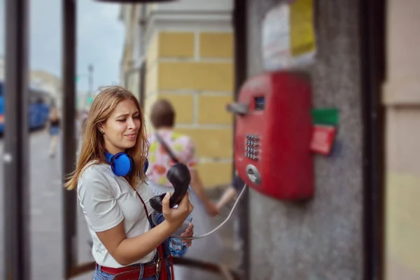
[[[118,103],[108,120],[99,127],[99,130],[104,132],[106,151],[115,155],[134,147],[140,126],[141,121],[136,104],[130,99]]]

